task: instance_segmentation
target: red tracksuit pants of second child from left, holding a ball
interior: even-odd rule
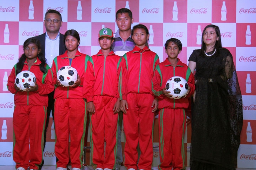
[[[83,98],[56,98],[54,104],[56,167],[82,168],[82,153],[86,128],[86,101]]]

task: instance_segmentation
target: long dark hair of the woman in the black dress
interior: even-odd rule
[[[222,48],[222,42],[221,42],[221,38],[220,38],[220,30],[219,30],[219,27],[218,27],[218,26],[215,26],[215,25],[213,25],[213,24],[210,24],[210,25],[206,26],[206,27],[204,28],[203,32],[202,32],[202,39],[201,39],[201,41],[202,41],[202,46],[201,46],[201,53],[200,53],[201,55],[203,55],[204,51],[206,51],[206,44],[205,44],[204,41],[203,41],[203,35],[204,35],[204,32],[205,32],[206,28],[209,28],[209,27],[214,28],[217,37],[219,37],[219,40],[217,40],[217,41],[215,42],[214,49],[216,49],[217,52],[218,52],[218,51],[219,51],[219,48]],[[213,50],[214,50],[214,49],[213,49]]]

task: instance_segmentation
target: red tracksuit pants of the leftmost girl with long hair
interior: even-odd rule
[[[38,169],[42,163],[46,115],[46,106],[15,106],[13,159],[16,168]]]

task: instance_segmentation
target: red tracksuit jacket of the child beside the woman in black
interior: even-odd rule
[[[176,67],[173,67],[169,62],[168,58],[165,61],[161,62],[155,70],[155,75],[153,77],[153,92],[155,96],[158,96],[158,108],[188,108],[188,98],[180,98],[180,99],[170,99],[162,94],[162,90],[164,89],[167,80],[171,77],[180,76],[187,80],[188,86],[190,87],[190,92],[188,97],[194,93],[195,85],[194,85],[194,75],[192,74],[190,68],[182,63],[180,59],[178,59],[178,63]]]

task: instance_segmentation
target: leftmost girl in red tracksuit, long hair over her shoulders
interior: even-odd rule
[[[37,39],[23,44],[24,53],[12,68],[8,90],[14,95],[13,159],[17,170],[38,169],[43,159],[44,126],[47,116],[48,94],[54,90],[52,71],[46,64]],[[36,83],[26,90],[18,89],[15,78],[23,70],[36,76]]]

